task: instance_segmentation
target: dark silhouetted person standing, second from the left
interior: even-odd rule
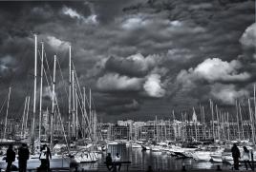
[[[27,171],[27,161],[30,158],[30,150],[28,148],[27,143],[22,143],[22,145],[18,149],[19,156],[19,172]]]

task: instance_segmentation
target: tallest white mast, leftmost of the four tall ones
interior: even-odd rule
[[[34,35],[34,75],[33,75],[33,104],[32,104],[32,154],[34,153],[34,123],[36,108],[36,78],[37,78],[37,35]]]

